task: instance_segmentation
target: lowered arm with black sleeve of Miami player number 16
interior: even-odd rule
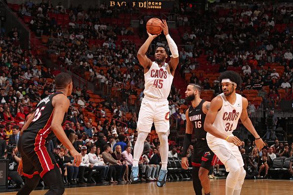
[[[185,116],[186,116],[186,130],[185,130],[185,136],[183,140],[183,151],[182,151],[182,162],[181,166],[184,169],[187,169],[189,167],[188,160],[186,158],[187,149],[191,143],[191,134],[193,131],[193,124],[191,123],[189,116],[189,109],[186,110]]]

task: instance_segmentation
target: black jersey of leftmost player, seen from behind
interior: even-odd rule
[[[58,94],[62,94],[62,92],[51,94],[38,102],[34,119],[32,120],[28,129],[25,130],[26,132],[36,133],[36,135],[38,134],[39,136],[42,136],[47,141],[55,136],[53,131],[50,129],[50,126],[54,113],[52,99]],[[64,115],[62,124],[65,122],[66,117],[67,113]]]

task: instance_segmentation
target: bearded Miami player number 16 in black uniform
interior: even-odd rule
[[[183,141],[182,167],[187,169],[189,164],[186,152],[191,142],[191,134],[194,130],[195,144],[192,154],[192,177],[193,188],[196,195],[210,194],[209,170],[216,162],[216,156],[209,148],[206,141],[207,132],[204,130],[204,121],[208,112],[210,102],[200,98],[202,87],[198,84],[189,84],[185,92],[186,102],[191,106],[186,110],[186,132]]]

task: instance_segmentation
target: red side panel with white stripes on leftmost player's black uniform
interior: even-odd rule
[[[54,169],[54,164],[49,156],[49,153],[47,151],[47,148],[45,146],[45,142],[46,142],[46,138],[48,137],[48,134],[52,131],[50,129],[51,126],[51,122],[53,119],[53,113],[54,113],[54,109],[53,112],[47,122],[47,124],[45,125],[45,127],[43,129],[40,129],[37,132],[37,136],[35,139],[35,152],[37,154],[37,157],[39,159],[39,162],[42,166],[42,172],[40,172],[39,176],[42,178],[44,176],[45,173],[47,173],[49,170]]]

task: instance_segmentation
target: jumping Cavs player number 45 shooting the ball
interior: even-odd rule
[[[157,186],[163,187],[166,183],[169,149],[169,106],[167,97],[170,94],[175,69],[179,63],[179,54],[177,45],[169,35],[166,20],[163,20],[160,26],[163,29],[172,54],[170,62],[165,63],[168,58],[168,52],[164,46],[158,46],[155,49],[154,62],[151,62],[146,56],[151,41],[160,34],[152,35],[147,32],[148,38],[137,54],[140,64],[144,67],[145,97],[142,100],[137,124],[138,138],[134,146],[131,182],[139,181],[138,162],[144,149],[144,142],[150,132],[152,123],[154,123],[160,139],[160,155],[162,159]]]

